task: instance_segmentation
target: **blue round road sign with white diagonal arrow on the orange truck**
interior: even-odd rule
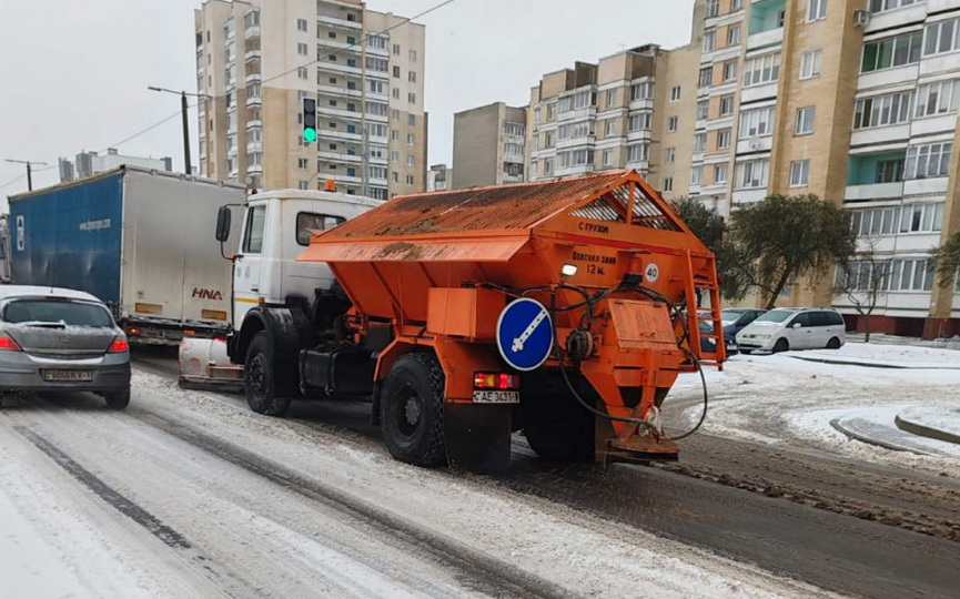
[[[554,325],[536,300],[514,300],[497,319],[497,349],[517,370],[533,370],[546,362],[554,346]]]

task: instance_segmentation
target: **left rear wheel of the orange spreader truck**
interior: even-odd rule
[[[383,440],[394,458],[416,466],[446,461],[443,390],[443,368],[432,354],[396,361],[380,404]]]

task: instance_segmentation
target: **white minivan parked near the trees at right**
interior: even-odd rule
[[[740,353],[836,349],[847,342],[843,317],[829,308],[776,308],[737,333]]]

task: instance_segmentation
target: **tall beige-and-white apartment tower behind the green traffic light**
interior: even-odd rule
[[[360,0],[206,0],[195,32],[201,175],[259,190],[333,180],[377,199],[426,189],[423,26]]]

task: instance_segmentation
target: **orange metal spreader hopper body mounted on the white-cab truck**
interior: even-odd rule
[[[555,313],[560,347],[589,323],[590,357],[565,362],[612,416],[655,414],[678,373],[694,368],[690,353],[701,364],[726,358],[714,255],[635,171],[396,197],[315,235],[299,260],[330,265],[353,302],[358,337],[372,323],[393,327],[378,380],[400,355],[430,346],[447,403],[472,402],[475,372],[507,369],[495,344],[497,317],[512,300],[503,290],[539,287],[526,295],[562,308],[583,301],[562,283],[593,294],[639,281],[675,306],[671,314],[663,301],[616,292],[594,305],[592,318],[585,307]],[[564,265],[576,274],[563,276]],[[710,307],[699,308],[698,298]],[[718,332],[715,352],[701,351],[699,321]],[[544,365],[557,366],[557,354]],[[676,455],[665,435],[633,424],[598,419],[597,433],[608,453]]]

